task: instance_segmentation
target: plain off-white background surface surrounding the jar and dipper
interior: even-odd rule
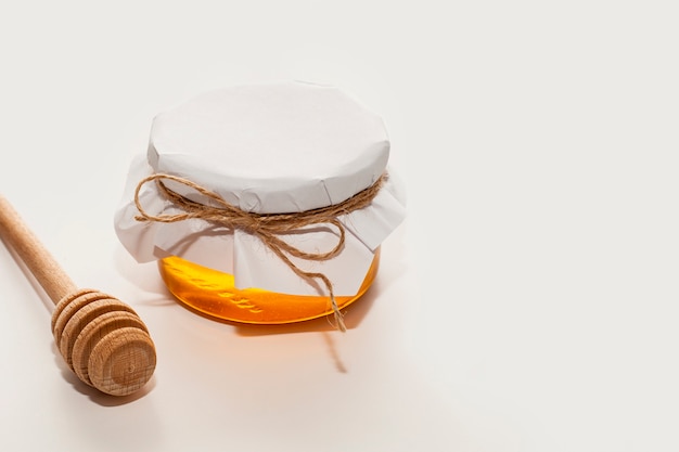
[[[78,383],[0,246],[0,450],[679,450],[676,2],[9,3],[0,193],[158,366]],[[193,314],[113,231],[156,113],[287,79],[382,115],[408,186],[345,335]]]

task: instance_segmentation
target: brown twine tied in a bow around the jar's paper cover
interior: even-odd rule
[[[337,323],[337,327],[342,332],[346,332],[343,314],[337,307],[333,285],[330,279],[323,273],[308,272],[302,270],[290,259],[290,256],[310,261],[323,261],[332,259],[335,256],[340,255],[340,253],[344,248],[346,230],[344,224],[342,224],[342,222],[337,218],[354,210],[359,210],[368,207],[382,188],[386,178],[387,173],[385,172],[377,179],[375,183],[338,204],[333,204],[326,207],[320,207],[317,209],[305,210],[300,212],[256,214],[241,210],[240,208],[227,203],[217,193],[207,190],[189,179],[166,173],[154,173],[142,179],[137,184],[137,189],[134,191],[134,205],[139,210],[139,215],[136,216],[134,219],[137,221],[174,223],[177,221],[197,218],[207,222],[226,227],[230,230],[240,229],[254,236],[257,236],[262,244],[265,244],[271,251],[273,251],[273,254],[278,256],[287,267],[290,267],[290,269],[295,272],[295,274],[297,274],[299,277],[307,281],[320,280],[325,285],[335,321]],[[174,181],[179,184],[185,185],[202,194],[208,201],[212,201],[214,205],[207,205],[189,199],[185,196],[182,196],[169,190],[163,183],[164,180]],[[155,181],[159,194],[166,199],[170,201],[176,207],[178,207],[182,211],[181,214],[151,215],[143,208],[139,199],[141,189],[146,183],[153,181]],[[278,237],[278,235],[280,234],[300,232],[303,228],[313,224],[326,224],[334,227],[337,230],[337,243],[331,250],[325,253],[306,253]]]

